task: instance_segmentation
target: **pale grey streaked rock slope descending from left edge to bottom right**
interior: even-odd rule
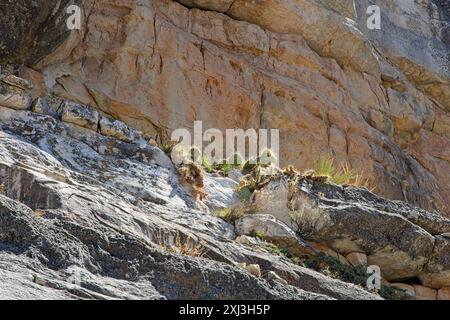
[[[228,206],[234,188],[207,180],[212,205]],[[235,242],[231,225],[196,209],[165,154],[139,140],[0,108],[0,185],[0,298],[379,299]],[[203,257],[175,253],[189,243]]]

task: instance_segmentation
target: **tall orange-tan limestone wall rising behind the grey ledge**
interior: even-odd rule
[[[375,2],[381,31],[366,1],[86,0],[83,29],[27,73],[163,139],[194,120],[279,128],[282,164],[331,152],[449,214],[448,5]]]

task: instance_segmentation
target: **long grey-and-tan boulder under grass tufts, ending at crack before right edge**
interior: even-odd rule
[[[421,274],[434,246],[434,237],[426,230],[395,211],[381,210],[376,203],[356,198],[342,202],[339,193],[333,195],[328,190],[344,187],[300,179],[289,188],[287,179],[277,175],[256,191],[249,210],[270,213],[294,225],[293,230],[303,239],[323,243],[340,254],[365,252],[367,263],[379,266],[389,281]],[[357,189],[345,188],[359,196]]]

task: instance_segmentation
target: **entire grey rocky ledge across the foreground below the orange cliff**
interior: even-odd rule
[[[449,298],[450,220],[438,214],[293,169],[246,199],[240,173],[203,172],[196,201],[142,133],[0,81],[2,298]],[[323,264],[359,276],[376,265],[382,288]]]

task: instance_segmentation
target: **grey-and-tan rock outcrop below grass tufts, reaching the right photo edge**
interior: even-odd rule
[[[450,286],[450,220],[439,215],[386,201],[365,189],[282,173],[255,191],[243,211],[256,214],[250,221],[274,216],[296,231],[300,241],[320,243],[338,259],[363,254],[362,260],[379,266],[390,282],[420,279],[429,289]],[[260,230],[254,224],[241,234]]]

